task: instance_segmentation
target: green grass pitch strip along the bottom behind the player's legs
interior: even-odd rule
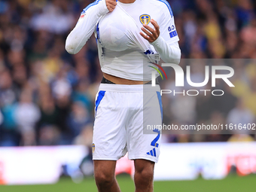
[[[122,192],[133,192],[134,185],[130,176],[117,176]],[[93,178],[85,179],[81,184],[73,183],[69,178],[62,178],[57,184],[31,186],[0,186],[1,192],[97,192]],[[154,192],[254,192],[256,175],[239,177],[229,176],[224,180],[206,181],[156,181]]]

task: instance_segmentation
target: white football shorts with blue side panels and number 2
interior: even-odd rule
[[[93,128],[93,160],[119,160],[128,151],[130,160],[158,161],[162,124],[160,87],[100,84]],[[150,133],[150,134],[148,134]]]

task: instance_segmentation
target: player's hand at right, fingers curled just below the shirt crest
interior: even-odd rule
[[[144,33],[140,32],[139,34],[142,35],[143,38],[148,40],[148,42],[153,43],[160,35],[160,27],[155,20],[151,20],[151,23],[154,26],[154,29],[152,29],[150,26],[143,25],[142,31]]]

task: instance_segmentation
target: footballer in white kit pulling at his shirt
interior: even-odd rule
[[[84,8],[66,39],[66,50],[78,53],[93,33],[103,72],[93,128],[96,185],[100,192],[120,191],[115,166],[128,152],[134,160],[136,192],[151,192],[160,130],[144,134],[143,128],[162,124],[163,114],[160,86],[152,86],[154,69],[149,66],[159,58],[180,62],[172,8],[165,0],[96,0]]]

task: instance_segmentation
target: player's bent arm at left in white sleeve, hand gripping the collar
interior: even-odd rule
[[[99,18],[113,11],[116,5],[115,0],[96,0],[84,8],[77,25],[66,39],[66,50],[70,54],[78,53],[96,29]]]

